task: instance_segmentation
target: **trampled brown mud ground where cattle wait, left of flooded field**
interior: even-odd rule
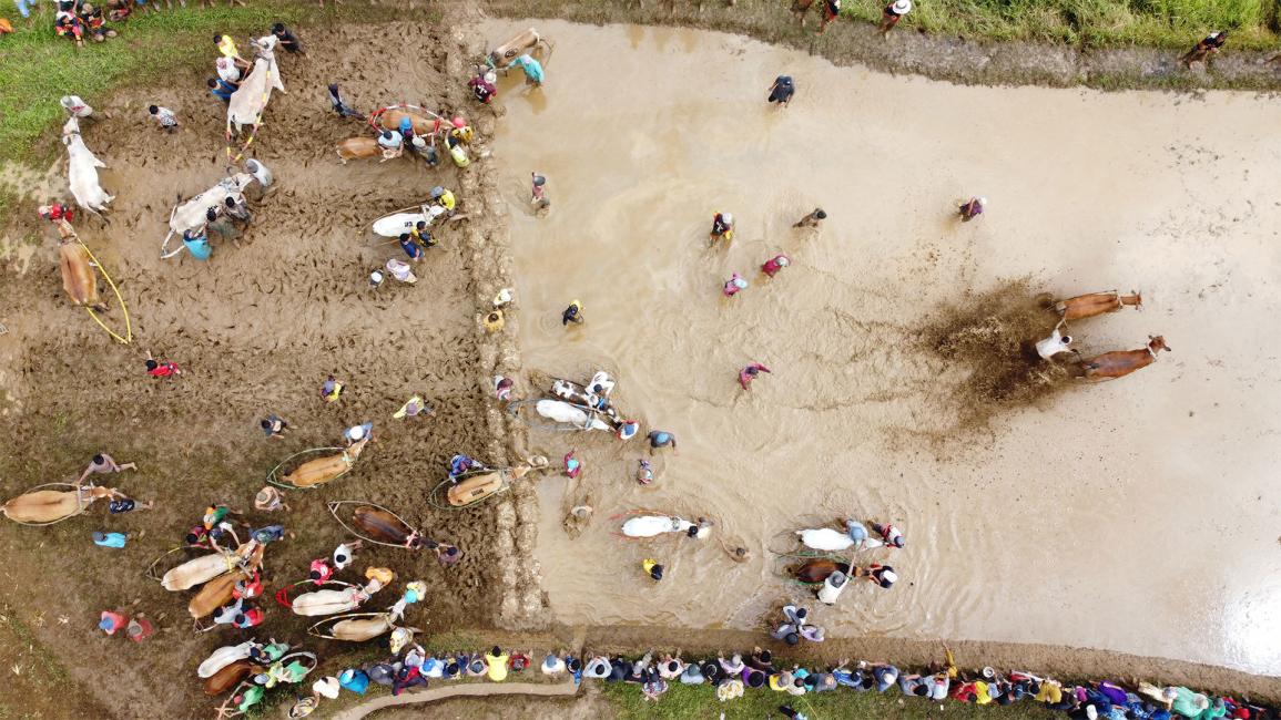
[[[192,633],[188,593],[167,593],[142,570],[179,545],[214,501],[249,510],[254,527],[274,522],[292,533],[266,555],[268,593],[259,605],[269,618],[256,634],[305,645],[330,662],[325,671],[337,671],[337,657],[351,647],[307,638],[309,623],[275,606],[270,595],[304,578],[307,563],[327,556],[343,537],[325,510],[328,500],[380,503],[465,551],[448,570],[427,554],[360,551],[355,572],[384,565],[398,575],[371,609],[389,605],[401,582],[420,578],[432,592],[410,610],[407,619],[419,627],[514,624],[538,614],[532,563],[512,551],[532,546],[523,542],[532,532],[532,497],[518,491],[464,512],[436,510],[425,501],[455,453],[493,464],[514,458],[494,440],[509,434],[501,413],[489,409],[489,382],[494,372],[514,375],[519,361],[478,324],[489,298],[510,284],[502,270],[502,208],[487,200],[493,193],[484,139],[465,170],[448,162],[427,170],[410,160],[342,166],[333,145],[368,129],[329,113],[324,91],[338,82],[348,102],[365,110],[410,101],[464,114],[485,138],[492,118],[465,87],[469,63],[483,49],[465,38],[466,27],[465,18],[453,17],[441,24],[305,31],[309,54],[281,59],[290,92],[273,97],[252,148],[277,187],[254,205],[254,224],[240,247],[215,240],[205,263],[187,256],[163,261],[158,251],[175,194],[208,188],[227,164],[224,109],[204,87],[213,59],[209,68],[173,73],[164,86],[95,102],[99,120],[85,124],[85,141],[106,162],[102,184],[117,200],[110,225],[87,220],[77,228],[120,284],[133,345],[113,343],[63,295],[50,229],[33,220],[35,205],[50,198],[19,205],[6,242],[36,231],[44,244],[10,256],[0,275],[0,318],[9,329],[0,353],[0,431],[22,439],[0,451],[0,492],[8,497],[70,480],[105,450],[140,467],[111,477],[111,485],[159,504],[126,515],[97,506],[45,529],[0,527],[10,586],[24,588],[12,596],[13,611],[72,678],[113,678],[86,683],[110,714],[202,716],[213,705],[200,696],[195,664],[215,647],[240,642],[242,633]],[[389,43],[406,49],[409,60],[370,61]],[[165,134],[152,127],[149,104],[174,109],[182,129]],[[436,184],[453,189],[471,219],[439,234],[439,247],[415,267],[416,285],[388,280],[370,289],[369,271],[401,253],[371,239],[369,223],[423,202]],[[115,308],[105,320],[118,327],[123,313]],[[147,377],[146,349],[184,373]],[[336,404],[319,396],[328,373],[347,384]],[[436,413],[393,421],[412,394]],[[269,442],[257,428],[270,412],[290,421],[287,440]],[[378,441],[352,473],[315,492],[288,494],[287,513],[252,510],[254,492],[272,467],[296,451],[334,445],[343,427],[363,421],[375,423]],[[105,550],[90,542],[95,529],[133,537],[123,551]],[[339,578],[354,579],[352,572]],[[161,632],[143,645],[105,637],[95,629],[102,609],[145,613]]]

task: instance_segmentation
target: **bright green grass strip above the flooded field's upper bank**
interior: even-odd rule
[[[847,0],[843,14],[879,22],[883,3]],[[1186,49],[1230,31],[1230,49],[1276,47],[1281,0],[918,0],[898,31],[1081,46]]]

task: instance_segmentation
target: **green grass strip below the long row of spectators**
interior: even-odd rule
[[[798,712],[806,714],[810,720],[834,720],[838,717],[875,717],[876,720],[908,720],[917,717],[948,717],[949,720],[974,717],[990,720],[1049,720],[1052,717],[1062,717],[1062,714],[1050,712],[1030,702],[1009,707],[977,707],[948,701],[944,703],[945,710],[940,711],[936,702],[925,702],[920,698],[903,698],[897,691],[877,694],[843,688],[802,697],[792,697],[772,691],[748,691],[738,700],[720,702],[716,700],[716,691],[711,685],[681,685],[673,683],[658,702],[646,702],[639,685],[598,683],[597,687],[601,689],[602,697],[610,702],[621,720],[719,717],[721,712],[725,714],[726,720],[761,720],[771,716],[781,717],[778,708],[785,703],[790,705]]]

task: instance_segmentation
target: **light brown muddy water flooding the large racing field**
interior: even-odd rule
[[[804,590],[769,551],[788,531],[889,519],[901,575],[848,590],[840,637],[1085,646],[1281,674],[1281,293],[1276,100],[954,87],[835,68],[743,37],[560,22],[547,84],[502,83],[496,159],[512,207],[525,368],[615,373],[624,414],[675,432],[658,480],[640,439],[578,448],[552,478],[537,558],[566,623],[752,628]],[[765,102],[796,78],[790,107]],[[551,211],[529,212],[529,173]],[[956,201],[989,198],[962,225]],[[817,233],[792,229],[815,206]],[[708,248],[712,214],[738,224]],[[766,280],[758,266],[793,266]],[[751,286],[722,298],[731,272]],[[1089,357],[1173,348],[1123,380],[997,413],[917,333],[1011,279],[1027,294],[1141,290],[1073,324]],[[584,303],[587,322],[560,311]],[[1053,325],[1047,316],[1045,330]],[[1038,338],[1026,338],[1035,340]],[[751,393],[737,371],[774,372]],[[981,408],[980,408],[981,409]],[[984,413],[979,413],[983,416]],[[570,538],[559,508],[591,495]],[[623,541],[611,515],[712,517],[711,541]],[[735,564],[715,540],[752,549]],[[661,583],[639,563],[667,565]]]

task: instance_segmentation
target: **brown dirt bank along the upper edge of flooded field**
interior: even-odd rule
[[[1149,47],[1080,49],[1035,42],[980,42],[926,35],[902,27],[883,40],[876,27],[840,20],[816,36],[813,13],[801,28],[788,3],[770,0],[489,0],[506,18],[553,17],[583,23],[683,26],[740,33],[822,55],[838,65],[857,63],[886,73],[912,73],[961,84],[1043,84],[1099,88],[1237,88],[1277,90],[1281,65],[1266,64],[1272,52],[1234,51],[1231,46],[1207,70],[1179,63],[1180,52]],[[1207,28],[1207,32],[1214,28]],[[1194,38],[1189,38],[1191,47]]]

